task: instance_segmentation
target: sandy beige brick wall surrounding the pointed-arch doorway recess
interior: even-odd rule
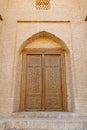
[[[69,100],[69,104],[72,103],[72,111],[86,115],[87,25],[84,21],[86,1],[81,3],[78,0],[66,0],[66,2],[54,0],[51,1],[51,9],[47,11],[36,10],[35,0],[9,0],[8,2],[3,0],[0,2],[3,7],[1,10],[3,21],[0,21],[0,26],[3,28],[0,33],[3,38],[0,45],[2,52],[0,54],[0,113],[8,115],[16,110],[15,100],[19,98],[19,95],[15,96],[15,92],[19,91],[20,86],[20,80],[17,81],[16,78],[18,50],[23,42],[33,34],[48,31],[62,39],[70,50],[70,76],[67,77],[67,85],[68,98],[71,98],[72,89],[73,99]],[[19,106],[19,104],[16,105]]]

